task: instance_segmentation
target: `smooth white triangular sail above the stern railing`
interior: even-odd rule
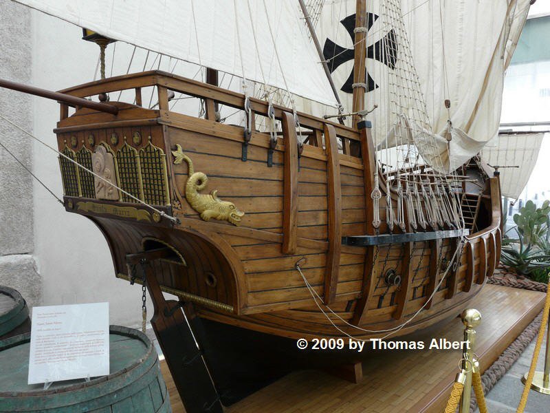
[[[111,39],[336,103],[294,0],[16,1]]]

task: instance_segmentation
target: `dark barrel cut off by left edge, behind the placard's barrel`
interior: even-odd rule
[[[30,331],[29,308],[19,291],[0,286],[0,340]]]

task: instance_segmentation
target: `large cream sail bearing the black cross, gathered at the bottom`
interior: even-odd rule
[[[414,143],[428,164],[452,171],[498,133],[503,76],[529,0],[366,4],[366,109],[378,106],[375,140]],[[346,109],[357,87],[353,30],[355,0],[325,3],[316,31]],[[404,120],[410,134],[392,133]]]

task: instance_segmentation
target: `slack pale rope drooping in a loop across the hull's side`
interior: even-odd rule
[[[342,330],[340,327],[338,327],[334,321],[331,319],[331,317],[325,312],[325,310],[322,309],[322,307],[320,306],[319,302],[322,303],[328,310],[329,312],[334,315],[336,318],[340,319],[340,321],[342,321],[344,324],[346,324],[347,326],[349,327],[352,327],[352,328],[355,328],[357,330],[360,330],[360,331],[363,331],[363,332],[367,332],[367,333],[373,333],[373,334],[376,334],[376,333],[381,333],[381,332],[388,332],[388,334],[384,335],[384,337],[382,337],[381,339],[384,340],[388,337],[390,337],[391,335],[395,335],[396,332],[398,332],[399,330],[401,330],[402,328],[404,328],[407,324],[409,324],[412,320],[414,320],[420,313],[421,311],[426,308],[426,306],[428,305],[428,303],[430,301],[432,301],[434,295],[437,293],[437,291],[439,290],[439,287],[443,284],[443,281],[445,280],[445,277],[447,276],[447,274],[449,273],[449,270],[452,268],[453,266],[453,262],[458,254],[458,251],[459,251],[459,248],[456,248],[454,250],[454,254],[452,255],[451,259],[449,260],[449,264],[447,266],[447,268],[445,268],[445,272],[443,273],[443,275],[441,276],[441,279],[439,280],[439,282],[437,283],[437,285],[435,286],[432,294],[430,295],[430,297],[428,297],[428,299],[426,300],[426,303],[423,304],[423,306],[421,306],[421,308],[419,308],[419,310],[417,310],[417,312],[412,315],[409,319],[407,319],[406,321],[404,321],[404,323],[400,324],[399,326],[395,326],[393,328],[388,328],[388,329],[385,329],[385,330],[366,330],[365,328],[361,328],[359,326],[354,326],[353,324],[349,323],[349,321],[347,320],[344,320],[342,317],[340,317],[338,314],[334,313],[334,311],[329,307],[327,306],[327,304],[324,304],[323,301],[322,301],[322,298],[318,295],[317,291],[311,286],[311,284],[309,284],[309,282],[307,281],[305,275],[303,274],[300,266],[298,264],[296,264],[295,268],[296,270],[298,271],[298,273],[300,273],[300,275],[302,276],[302,279],[304,280],[304,283],[307,287],[307,289],[309,290],[309,293],[311,294],[311,297],[314,299],[315,301],[315,304],[317,305],[317,307],[319,308],[319,310],[321,310],[321,313],[323,313],[323,315],[325,315],[325,317],[327,317],[327,320],[329,320],[330,324],[332,324],[332,326],[334,328],[336,328],[336,330],[338,330],[339,332],[341,332],[343,335],[349,337],[350,339],[353,339],[355,341],[371,341],[371,339],[359,339],[357,337],[353,337],[352,335],[350,335],[348,332],[345,332],[344,330]],[[317,298],[316,298],[317,297]],[[318,301],[319,300],[319,301]]]

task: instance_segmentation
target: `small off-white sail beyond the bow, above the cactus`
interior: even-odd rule
[[[527,181],[536,165],[544,132],[517,134],[499,134],[481,151],[482,165],[492,165],[502,168],[500,171],[500,191],[503,196],[518,199],[527,185]],[[487,173],[492,175],[493,169],[487,167]]]

